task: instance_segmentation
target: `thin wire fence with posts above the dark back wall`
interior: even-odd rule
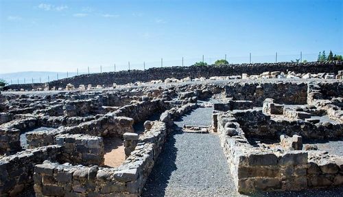
[[[341,52],[336,52],[336,54],[342,54]],[[207,57],[200,56],[198,58],[185,58],[181,57],[178,60],[168,60],[161,58],[152,62],[126,62],[121,64],[108,64],[108,65],[99,65],[96,67],[80,67],[73,68],[67,72],[56,72],[47,75],[46,73],[35,73],[34,76],[25,76],[25,77],[4,77],[3,80],[8,82],[8,84],[32,84],[38,82],[51,82],[53,80],[60,80],[63,78],[70,78],[73,76],[78,76],[82,74],[91,74],[91,73],[104,73],[104,72],[114,72],[114,71],[128,71],[128,70],[145,70],[156,67],[187,67],[194,65],[196,62],[206,62],[208,65],[214,64],[216,60],[227,60],[229,64],[242,64],[242,63],[272,63],[272,62],[307,62],[316,61],[318,54],[303,54],[299,52],[298,54],[279,54],[275,53],[272,55],[265,56],[254,56],[254,54],[247,54],[247,56],[229,56],[224,54],[217,57]]]

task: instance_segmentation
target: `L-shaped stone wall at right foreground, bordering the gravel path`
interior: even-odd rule
[[[328,161],[318,154],[309,157],[302,150],[273,151],[252,146],[237,119],[228,113],[217,114],[215,125],[240,193],[343,185],[343,157]]]

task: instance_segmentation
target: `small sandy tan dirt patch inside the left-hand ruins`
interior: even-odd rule
[[[105,165],[109,167],[118,167],[125,161],[125,152],[123,141],[117,137],[104,139],[105,143]]]

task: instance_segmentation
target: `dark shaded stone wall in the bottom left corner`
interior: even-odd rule
[[[16,196],[31,187],[34,165],[46,159],[56,161],[60,151],[60,146],[45,146],[0,157],[0,196]]]

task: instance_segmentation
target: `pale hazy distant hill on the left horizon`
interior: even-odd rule
[[[32,83],[32,79],[35,83],[37,82],[48,82],[51,80],[56,80],[58,74],[58,79],[67,78],[66,72],[46,72],[46,71],[26,71],[17,73],[0,73],[0,78],[8,82],[8,84],[17,84],[18,80],[20,84]],[[82,73],[79,73],[82,74]],[[48,78],[49,76],[49,78]],[[76,76],[76,73],[68,73],[68,77]]]

